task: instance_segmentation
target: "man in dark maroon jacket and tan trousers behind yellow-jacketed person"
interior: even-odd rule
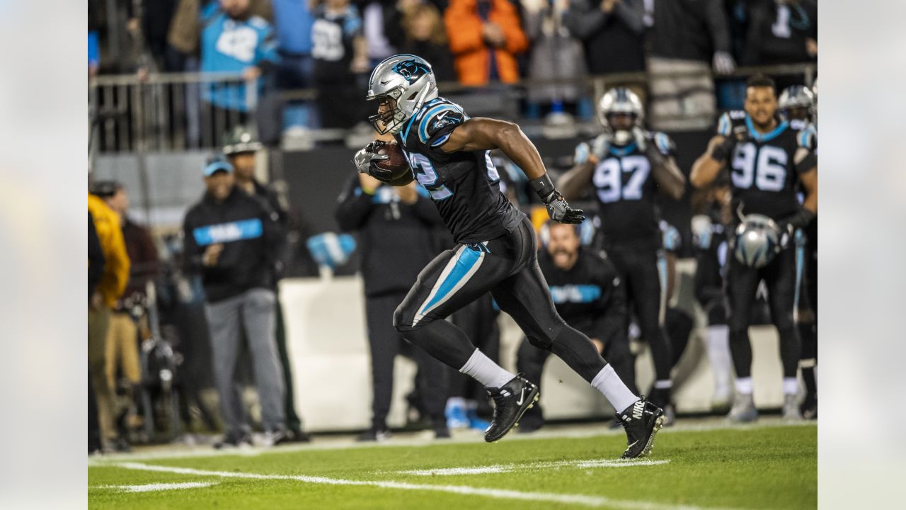
[[[158,275],[158,249],[147,229],[132,221],[129,211],[129,194],[117,181],[97,181],[92,185],[92,194],[116,212],[120,218],[123,240],[130,259],[130,275],[126,289],[112,310],[110,327],[107,331],[106,371],[107,381],[112,388],[118,387],[116,375],[121,372],[124,379],[124,393],[131,399],[133,387],[141,382],[139,343],[149,338],[149,324],[143,310],[146,286]],[[141,330],[141,335],[139,334]],[[117,412],[119,415],[119,409]],[[121,432],[121,431],[120,431]],[[118,449],[127,449],[127,438],[120,434]]]

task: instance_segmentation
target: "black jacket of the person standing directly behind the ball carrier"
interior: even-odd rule
[[[436,230],[444,224],[429,198],[407,205],[386,185],[365,194],[358,174],[340,195],[336,219],[342,230],[359,232],[366,296],[409,290],[440,251]]]

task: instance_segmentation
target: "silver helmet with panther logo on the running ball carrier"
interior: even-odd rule
[[[428,61],[413,54],[393,55],[371,72],[365,97],[389,108],[368,120],[381,134],[396,134],[423,104],[436,97],[438,83]]]

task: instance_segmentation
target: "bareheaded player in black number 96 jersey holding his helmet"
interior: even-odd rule
[[[752,346],[748,326],[752,300],[760,280],[765,280],[771,316],[780,336],[784,366],[784,417],[800,417],[796,404],[796,367],[800,339],[793,321],[798,282],[792,234],[814,220],[818,211],[817,159],[796,132],[776,115],[774,82],[763,76],[749,79],[746,111],[725,113],[718,135],[708,151],[692,166],[691,181],[707,186],[728,166],[733,191],[733,211],[738,215],[760,214],[779,226],[782,249],[765,267],[756,269],[730,257],[728,297],[730,305],[730,351],[737,372],[737,399],[728,417],[748,421],[757,417],[752,401]],[[800,205],[797,185],[805,191]]]

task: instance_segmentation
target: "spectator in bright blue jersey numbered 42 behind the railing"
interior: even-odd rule
[[[201,71],[241,73],[254,82],[261,93],[261,76],[274,68],[279,56],[272,26],[253,15],[249,0],[219,0],[201,13]],[[228,119],[247,122],[247,112],[255,104],[246,98],[246,84],[208,85],[203,98],[210,103],[215,133],[223,131]],[[217,129],[219,128],[219,129]]]

